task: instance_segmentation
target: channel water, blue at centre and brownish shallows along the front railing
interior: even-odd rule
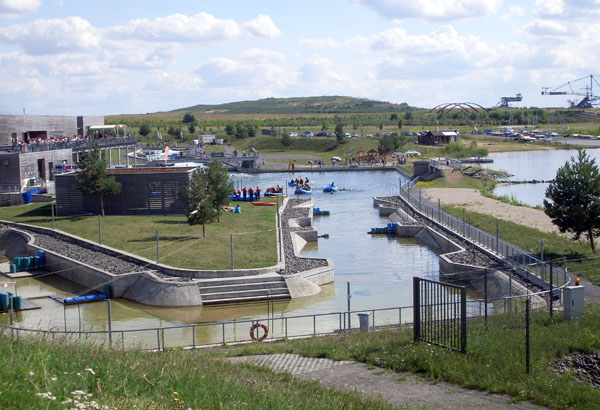
[[[372,198],[396,194],[399,183],[403,180],[400,174],[395,171],[343,171],[307,172],[302,176],[308,176],[311,180],[314,206],[331,212],[330,216],[316,216],[313,221],[319,234],[327,233],[329,238],[309,243],[302,255],[331,258],[335,264],[335,283],[322,286],[321,293],[313,297],[270,303],[164,308],[115,299],[111,302],[111,330],[118,332],[215,321],[243,321],[265,318],[268,315],[281,319],[286,316],[344,312],[348,309],[348,288],[352,311],[408,307],[412,305],[413,276],[438,278],[438,255],[427,246],[413,239],[367,234],[372,227],[386,226],[389,222],[387,218],[379,216],[377,209],[373,207]],[[260,186],[263,190],[277,184],[287,187],[289,177],[290,174],[287,173],[232,176],[236,186]],[[322,188],[331,182],[335,182],[343,190],[335,194],[324,193]],[[293,195],[293,188],[287,189]],[[24,298],[52,294],[73,295],[81,291],[76,284],[52,276],[17,279],[16,287],[18,294]],[[15,313],[15,326],[60,331],[65,328],[68,331],[108,330],[107,303],[66,308],[51,298],[38,298],[35,303],[41,309]],[[385,314],[391,315],[390,323],[398,323],[396,310],[379,314],[378,324],[385,324]],[[412,319],[410,311],[407,310],[404,315],[402,322]],[[329,324],[323,326],[336,328],[339,325],[338,319],[341,321],[341,316],[332,316],[328,320]],[[290,323],[290,326],[312,329],[314,320],[309,317],[304,321],[297,320],[293,325]],[[356,316],[353,320],[353,326],[357,326]],[[8,314],[0,315],[1,324],[6,325],[8,321]],[[283,322],[280,320],[279,323],[277,326],[281,326],[279,333],[282,334]],[[166,346],[178,345],[179,340],[186,340],[185,344],[189,344],[191,332],[194,332],[191,336],[194,344],[219,343],[225,339],[232,340],[231,335],[225,337],[226,331],[234,333],[233,340],[236,339],[237,332],[240,333],[239,340],[247,339],[248,328],[247,322],[240,323],[237,327],[228,326],[226,329],[218,326],[206,326],[197,330],[181,327],[162,337],[168,339],[164,340]],[[272,333],[275,333],[275,329],[272,329]],[[126,340],[127,345],[152,346],[157,344],[157,333],[154,330],[136,332],[128,334]]]

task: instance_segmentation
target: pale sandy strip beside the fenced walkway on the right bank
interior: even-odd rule
[[[442,204],[463,206],[467,211],[491,215],[538,231],[563,235],[543,211],[505,204],[481,195],[481,192],[476,189],[425,188],[422,191],[423,195],[434,203],[439,199]]]

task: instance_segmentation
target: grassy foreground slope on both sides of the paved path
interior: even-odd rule
[[[40,339],[10,342],[0,336],[0,357],[9,364],[0,366],[0,407],[62,408],[60,403],[73,399],[73,392],[80,390],[91,395],[86,401],[114,408],[387,408],[354,393],[215,360],[297,353],[383,367],[398,373],[399,389],[407,381],[405,374],[415,373],[434,381],[506,393],[515,402],[530,400],[555,409],[599,408],[600,391],[549,368],[550,362],[572,352],[600,349],[597,306],[588,306],[585,318],[572,322],[550,320],[547,312],[533,314],[530,374],[525,373],[524,334],[522,315],[493,315],[489,331],[481,321],[471,321],[464,355],[414,343],[409,328],[161,353]],[[370,369],[375,377],[381,374]],[[41,397],[42,393],[56,400]]]

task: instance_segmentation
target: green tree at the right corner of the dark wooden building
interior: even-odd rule
[[[207,168],[196,169],[187,188],[179,194],[186,205],[188,223],[202,225],[203,237],[206,237],[206,224],[217,217],[211,194]]]

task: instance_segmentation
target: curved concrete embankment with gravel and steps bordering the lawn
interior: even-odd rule
[[[329,259],[298,256],[303,243],[317,240],[318,235],[311,226],[312,207],[306,204],[301,204],[301,214],[305,216],[290,218],[289,222],[283,219],[297,205],[290,205],[286,199],[280,208],[282,229],[278,230],[278,241],[283,244],[278,252],[283,255],[278,255],[281,262],[265,268],[179,269],[66,232],[6,221],[0,221],[0,254],[12,259],[35,256],[38,250],[43,250],[47,272],[89,290],[101,292],[105,285],[110,285],[113,297],[150,306],[199,306],[312,296],[320,292],[319,285],[333,281],[334,265]],[[288,263],[293,264],[293,270],[288,269]]]

